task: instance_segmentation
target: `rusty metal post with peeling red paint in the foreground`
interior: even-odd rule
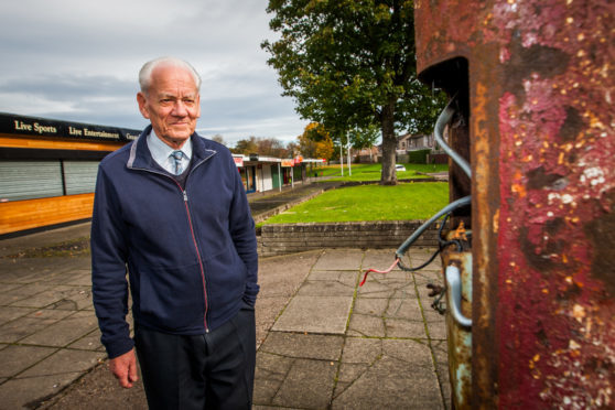
[[[467,88],[473,407],[615,407],[615,3],[414,6],[420,78]]]

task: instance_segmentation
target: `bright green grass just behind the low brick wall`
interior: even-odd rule
[[[428,219],[449,203],[449,184],[362,185],[327,191],[265,224]]]

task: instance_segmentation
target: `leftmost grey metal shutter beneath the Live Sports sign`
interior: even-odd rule
[[[60,161],[0,160],[0,201],[62,196]]]

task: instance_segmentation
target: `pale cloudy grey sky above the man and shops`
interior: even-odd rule
[[[267,0],[13,0],[0,6],[0,111],[142,129],[143,63],[190,62],[203,78],[197,132],[233,147],[290,142],[308,125],[260,48]]]

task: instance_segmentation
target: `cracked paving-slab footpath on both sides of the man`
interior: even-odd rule
[[[255,219],[320,184],[251,194]],[[285,196],[284,196],[285,195]],[[145,409],[141,381],[108,373],[90,292],[89,224],[0,240],[0,409]],[[418,266],[434,249],[411,248]],[[449,409],[444,316],[419,272],[385,269],[395,249],[262,258],[255,409]]]

